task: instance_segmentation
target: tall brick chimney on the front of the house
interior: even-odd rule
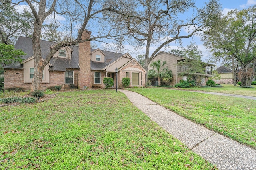
[[[91,37],[91,31],[86,29],[82,33],[82,40]],[[85,41],[79,43],[79,73],[78,73],[78,88],[83,89],[84,86],[92,88],[92,73],[91,73],[91,42]]]

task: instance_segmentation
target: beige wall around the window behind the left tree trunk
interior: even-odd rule
[[[24,67],[24,83],[32,83],[32,79],[30,78],[30,68],[34,68],[34,59],[31,59],[23,64]],[[42,83],[49,83],[49,65],[47,64],[44,68],[44,78],[42,79]]]

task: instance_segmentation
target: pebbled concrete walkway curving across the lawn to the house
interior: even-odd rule
[[[256,150],[193,123],[188,119],[128,90],[123,92],[143,111],[193,152],[221,170],[256,170]]]

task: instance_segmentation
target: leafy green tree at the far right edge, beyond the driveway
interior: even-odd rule
[[[204,44],[216,57],[230,60],[233,68],[238,62],[241,86],[251,86],[256,60],[256,6],[230,11],[205,35]]]

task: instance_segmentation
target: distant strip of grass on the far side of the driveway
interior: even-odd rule
[[[205,88],[179,88],[182,90],[198,90],[204,92],[216,92],[216,93],[227,93],[227,94],[240,94],[245,96],[256,97],[256,86],[255,88],[239,88],[232,84],[222,84],[223,87],[205,87]],[[177,89],[177,88],[174,88]]]

